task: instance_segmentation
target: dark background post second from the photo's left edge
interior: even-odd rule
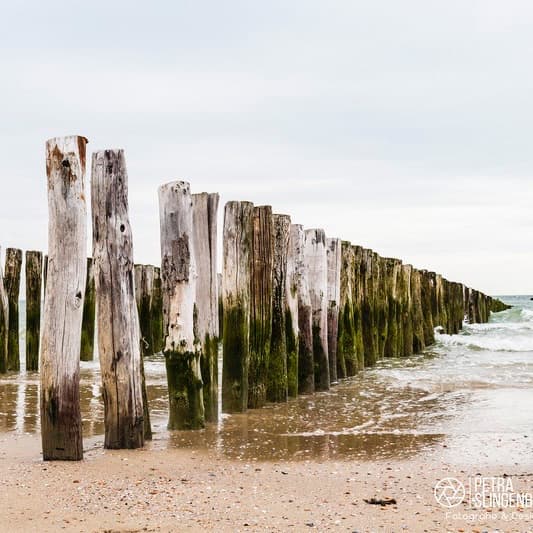
[[[20,272],[22,269],[22,250],[8,248],[6,250],[6,268],[4,286],[9,301],[9,337],[7,347],[7,369],[20,370],[19,347],[19,294]]]

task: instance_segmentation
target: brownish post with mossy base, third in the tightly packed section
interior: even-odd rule
[[[291,217],[272,215],[272,338],[268,357],[267,400],[286,402],[287,384],[287,255]]]

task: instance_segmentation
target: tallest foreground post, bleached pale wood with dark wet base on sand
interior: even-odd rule
[[[87,269],[87,139],[46,143],[48,276],[41,337],[41,437],[44,460],[81,460],[81,322]]]

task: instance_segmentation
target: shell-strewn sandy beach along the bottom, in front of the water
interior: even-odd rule
[[[215,452],[103,451],[86,443],[85,460],[44,463],[37,436],[1,439],[0,529],[17,531],[533,531],[531,510],[507,518],[447,512],[434,498],[444,477],[512,475],[533,490],[533,475],[458,468],[439,461],[241,462]],[[368,498],[396,505],[370,505]],[[455,514],[475,514],[473,521]]]

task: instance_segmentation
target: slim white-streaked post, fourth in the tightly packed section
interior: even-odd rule
[[[287,251],[287,283],[285,308],[285,334],[287,343],[287,389],[289,396],[298,396],[298,236],[294,224],[289,228],[289,248]]]

